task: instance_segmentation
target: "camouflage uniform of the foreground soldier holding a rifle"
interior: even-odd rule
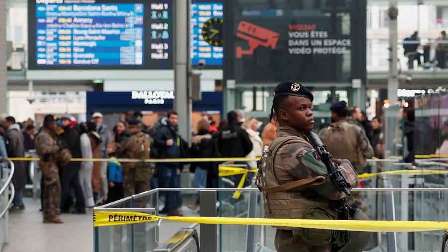
[[[283,136],[298,136],[308,141],[308,138],[302,132],[291,127],[282,126],[277,129],[277,137]],[[308,155],[310,153],[312,156]],[[305,156],[307,157],[305,158]],[[307,158],[310,157],[317,160],[314,160],[313,164],[308,163],[309,161],[307,160],[309,159]],[[314,165],[314,169],[319,170],[319,174],[315,170],[310,169],[311,165]],[[348,181],[352,182],[352,184],[357,181],[357,174],[348,160],[342,160],[340,168]],[[312,152],[311,145],[301,142],[286,142],[277,150],[273,161],[273,171],[275,179],[280,185],[327,174],[326,166],[316,158],[316,153]],[[324,184],[308,187],[304,190],[281,192],[276,197],[272,197],[272,195],[269,199],[270,218],[285,218],[286,214],[290,215],[290,218],[302,219],[310,207],[329,206],[330,200],[338,200],[345,197],[345,194],[338,192],[331,183],[333,182],[326,180]],[[284,206],[282,201],[285,200],[282,199],[286,199],[291,204]],[[292,203],[293,200],[295,200],[295,205]],[[277,227],[275,248],[278,252],[330,251],[328,246],[313,247],[306,244],[297,232],[287,227]]]

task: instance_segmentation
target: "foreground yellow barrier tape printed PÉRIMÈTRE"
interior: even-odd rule
[[[94,212],[94,227],[137,224],[158,220],[199,224],[261,225],[367,232],[418,232],[447,230],[448,222],[435,221],[339,221],[227,217],[159,217],[137,212]]]

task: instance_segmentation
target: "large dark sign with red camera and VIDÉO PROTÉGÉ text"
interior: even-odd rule
[[[307,8],[300,2],[283,9],[251,9],[238,0],[225,6],[225,79],[350,83],[357,64],[364,62],[365,72],[365,22],[355,16],[362,4]]]

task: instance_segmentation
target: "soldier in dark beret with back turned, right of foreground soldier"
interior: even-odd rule
[[[322,129],[319,137],[334,158],[347,158],[358,173],[363,173],[367,166],[366,158],[373,156],[373,148],[363,128],[347,121],[349,110],[344,101],[333,104],[330,110],[335,123]],[[355,187],[359,185],[356,184]],[[354,192],[348,204],[354,208],[367,210],[360,192]]]

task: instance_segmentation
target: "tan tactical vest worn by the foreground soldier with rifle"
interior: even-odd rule
[[[313,149],[310,143],[298,136],[283,136],[274,139],[265,146],[264,153],[258,161],[256,185],[263,194],[265,218],[304,219],[310,208],[330,208],[329,200],[324,197],[308,199],[303,197],[307,187],[325,182],[324,176],[301,179],[280,185],[274,174],[274,158],[278,149],[286,143],[303,143]],[[302,228],[274,226],[283,230],[302,230]]]

